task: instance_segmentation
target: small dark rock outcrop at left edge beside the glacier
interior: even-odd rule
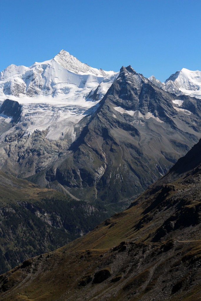
[[[0,114],[12,117],[12,123],[17,123],[20,120],[22,105],[19,102],[6,99],[0,107]]]

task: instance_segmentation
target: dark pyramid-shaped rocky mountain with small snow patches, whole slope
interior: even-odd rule
[[[192,127],[194,118],[194,124],[200,124],[199,101],[181,98],[184,104],[181,100],[179,107],[174,103],[176,95],[156,89],[130,66],[122,67],[70,152],[64,160],[61,156],[61,165],[55,162],[46,171],[49,185],[57,180],[72,194],[79,192],[77,197],[84,193],[90,199],[99,194],[113,201],[142,192],[199,137],[199,130]],[[129,195],[124,194],[128,185]]]

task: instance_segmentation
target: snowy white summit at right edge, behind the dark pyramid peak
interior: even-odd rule
[[[165,82],[160,82],[154,76],[149,80],[159,88],[176,95],[189,95],[201,99],[201,71],[188,70],[186,68],[172,74]]]

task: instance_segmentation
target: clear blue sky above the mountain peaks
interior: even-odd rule
[[[61,49],[91,67],[164,81],[201,70],[200,0],[0,0],[0,71]]]

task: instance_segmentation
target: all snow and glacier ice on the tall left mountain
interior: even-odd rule
[[[52,60],[35,62],[30,67],[12,64],[3,70],[0,73],[0,103],[8,98],[23,105],[19,126],[25,135],[48,130],[46,138],[50,140],[61,139],[67,134],[74,141],[74,125],[92,114],[99,102],[91,101],[87,95],[105,79],[99,88],[100,100],[117,74],[92,68],[61,50]],[[8,122],[8,116],[0,118]]]

